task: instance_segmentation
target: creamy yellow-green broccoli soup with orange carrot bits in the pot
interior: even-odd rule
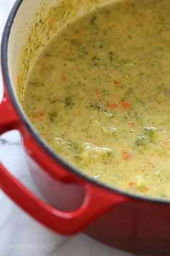
[[[170,198],[170,1],[116,1],[39,56],[23,107],[56,153],[94,179]]]

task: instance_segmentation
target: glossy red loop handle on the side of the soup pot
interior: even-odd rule
[[[20,121],[11,103],[4,96],[0,104],[0,134],[17,129]],[[84,229],[91,221],[118,205],[127,197],[113,196],[109,190],[94,184],[81,184],[85,190],[84,201],[79,209],[63,212],[40,200],[30,189],[24,187],[0,162],[0,187],[30,216],[60,234],[73,234]]]

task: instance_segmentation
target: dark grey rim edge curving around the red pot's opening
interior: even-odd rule
[[[27,121],[21,108],[19,107],[19,104],[17,103],[17,99],[12,90],[12,85],[11,85],[10,78],[9,78],[9,67],[8,67],[8,57],[7,57],[9,35],[11,33],[14,18],[16,17],[18,9],[21,6],[23,1],[24,0],[16,0],[15,1],[14,5],[11,9],[11,12],[9,13],[8,19],[6,21],[6,25],[4,27],[4,32],[3,32],[3,35],[1,38],[1,70],[3,73],[4,80],[5,80],[6,90],[9,94],[10,100],[12,101],[12,105],[13,105],[14,109],[17,111],[17,114],[19,114],[19,117],[22,120],[24,126],[27,127],[28,132],[30,132],[30,135],[32,135],[32,137],[35,139],[35,141],[38,143],[38,145],[40,145],[40,147],[42,147],[45,150],[45,152],[48,154],[48,157],[53,158],[53,161],[58,161],[66,169],[71,171],[73,174],[80,176],[81,179],[85,179],[86,182],[94,184],[98,187],[102,187],[102,189],[107,189],[110,192],[114,192],[116,194],[120,194],[125,197],[131,197],[134,200],[148,201],[148,202],[152,202],[152,203],[160,203],[160,204],[169,205],[170,200],[163,200],[161,198],[159,199],[159,198],[154,198],[154,197],[145,197],[142,195],[134,194],[133,192],[126,192],[122,189],[113,187],[112,185],[104,184],[104,182],[99,182],[99,181],[93,179],[92,177],[88,176],[87,174],[85,174],[84,172],[79,170],[79,168],[76,168],[76,167],[72,166],[71,164],[69,164],[67,161],[65,161],[60,155],[55,153],[55,151],[53,151],[50,148],[50,146],[48,146],[48,144],[46,144],[45,141],[41,139],[41,137],[39,135],[37,135],[37,132],[35,132],[34,127],[32,127],[32,125],[29,123],[29,121]]]

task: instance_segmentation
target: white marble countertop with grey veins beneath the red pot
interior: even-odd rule
[[[30,0],[32,1],[32,0]],[[32,1],[33,2],[33,1]],[[0,0],[0,37],[14,0]],[[0,77],[1,79],[1,77]],[[0,80],[0,98],[1,98]],[[37,192],[24,161],[19,133],[0,137],[0,161],[22,182]],[[0,191],[0,255],[1,256],[130,256],[90,239],[84,234],[62,237],[45,229],[27,216]],[[132,256],[132,255],[131,255]]]

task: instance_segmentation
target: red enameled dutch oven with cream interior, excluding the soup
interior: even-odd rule
[[[9,174],[2,163],[0,187],[30,216],[60,234],[84,231],[100,242],[128,252],[168,256],[170,202],[120,191],[97,182],[70,166],[37,135],[17,98],[17,62],[27,31],[38,16],[37,10],[44,11],[41,14],[43,19],[43,15],[55,4],[58,8],[56,20],[65,17],[66,22],[68,8],[76,8],[76,12],[73,12],[75,18],[75,13],[79,17],[80,13],[86,13],[107,2],[109,1],[18,0],[14,4],[1,43],[4,98],[0,103],[0,133],[19,130],[30,172],[48,203],[40,200]],[[63,16],[59,14],[62,4]],[[69,9],[69,14],[71,12]],[[71,22],[71,17],[69,19]],[[50,31],[52,30],[49,28],[49,35]],[[40,33],[38,36],[40,40],[44,40],[44,35]]]

